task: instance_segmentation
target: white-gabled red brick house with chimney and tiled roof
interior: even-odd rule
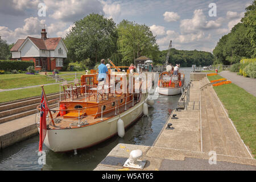
[[[27,36],[17,40],[10,50],[12,60],[34,61],[38,71],[61,70],[67,47],[61,38],[47,38],[46,34],[46,29],[42,29],[40,39]]]

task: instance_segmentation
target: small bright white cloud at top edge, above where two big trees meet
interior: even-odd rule
[[[119,4],[116,4],[116,3],[109,4],[105,1],[101,1],[101,3],[103,5],[103,11],[107,18],[117,19],[121,14],[121,6]]]

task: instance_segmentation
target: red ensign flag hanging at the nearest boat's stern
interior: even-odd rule
[[[40,140],[39,140],[39,151],[42,151],[44,138],[46,138],[46,116],[48,113],[48,107],[46,104],[46,98],[44,98],[44,93],[42,90],[41,96],[41,113],[40,113]]]

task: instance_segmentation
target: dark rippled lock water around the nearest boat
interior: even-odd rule
[[[189,82],[191,68],[181,68],[185,83]],[[170,115],[177,107],[180,95],[159,95],[153,106],[148,107],[149,116],[125,131],[125,137],[115,136],[96,146],[74,152],[55,153],[43,146],[46,164],[38,164],[39,135],[14,144],[0,151],[0,170],[93,170],[118,143],[152,146]]]

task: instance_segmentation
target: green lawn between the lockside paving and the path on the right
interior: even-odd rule
[[[219,75],[208,76],[209,80],[222,78]],[[213,87],[229,118],[232,119],[246,146],[249,146],[256,159],[256,97],[235,84]]]

